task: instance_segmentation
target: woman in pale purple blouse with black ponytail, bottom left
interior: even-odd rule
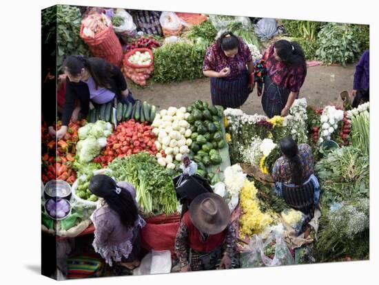
[[[141,228],[145,221],[139,215],[136,191],[132,184],[119,182],[102,174],[93,176],[89,189],[103,198],[102,206],[91,215],[94,223],[94,250],[113,266],[127,269],[139,266],[142,256]]]

